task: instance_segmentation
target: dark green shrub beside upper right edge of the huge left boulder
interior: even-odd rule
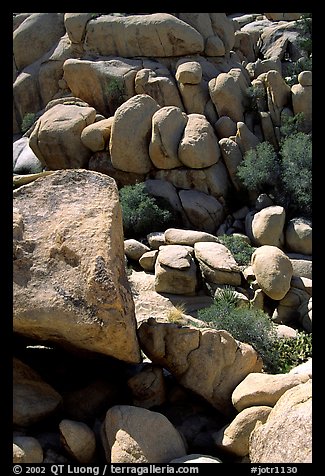
[[[169,204],[148,194],[144,183],[126,185],[120,192],[126,237],[145,237],[175,226],[177,216]]]

